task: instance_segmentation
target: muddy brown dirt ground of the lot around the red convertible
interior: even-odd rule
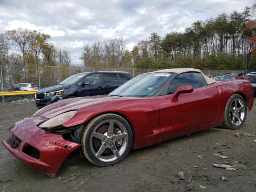
[[[0,140],[8,128],[36,112],[33,100],[0,104]],[[238,132],[238,134],[237,134]],[[250,133],[250,134],[248,134]],[[256,102],[240,130],[212,128],[132,150],[120,164],[97,168],[72,153],[56,178],[24,166],[0,144],[0,191],[256,191]],[[219,153],[227,159],[214,156]],[[198,157],[202,156],[202,157]],[[230,164],[236,170],[212,166]],[[177,174],[183,171],[185,180]],[[88,173],[89,172],[89,173]],[[78,173],[88,173],[62,184]],[[224,176],[227,181],[222,181]],[[192,178],[191,182],[188,182]],[[200,186],[206,187],[206,189]]]

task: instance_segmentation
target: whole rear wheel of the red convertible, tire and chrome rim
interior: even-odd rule
[[[232,95],[225,108],[224,122],[222,127],[227,129],[239,129],[246,120],[247,103],[238,94]]]

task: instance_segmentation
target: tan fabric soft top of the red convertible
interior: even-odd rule
[[[185,72],[199,72],[202,74],[202,76],[204,77],[204,79],[206,80],[207,84],[210,85],[210,84],[213,84],[216,82],[216,80],[206,76],[205,74],[202,73],[201,70],[199,69],[194,69],[194,68],[174,68],[174,69],[163,69],[163,70],[158,70],[158,71],[153,71],[153,72],[150,72],[150,73],[162,73],[162,72],[172,72],[172,73],[178,73],[178,74],[181,74],[181,73],[185,73]]]

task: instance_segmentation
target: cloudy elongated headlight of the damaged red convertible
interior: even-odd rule
[[[50,129],[50,128],[59,126],[61,124],[64,124],[65,122],[70,120],[76,114],[76,112],[77,112],[77,110],[74,110],[74,111],[68,111],[66,113],[57,115],[57,116],[47,120],[46,122],[43,122],[42,124],[39,125],[39,127]]]

